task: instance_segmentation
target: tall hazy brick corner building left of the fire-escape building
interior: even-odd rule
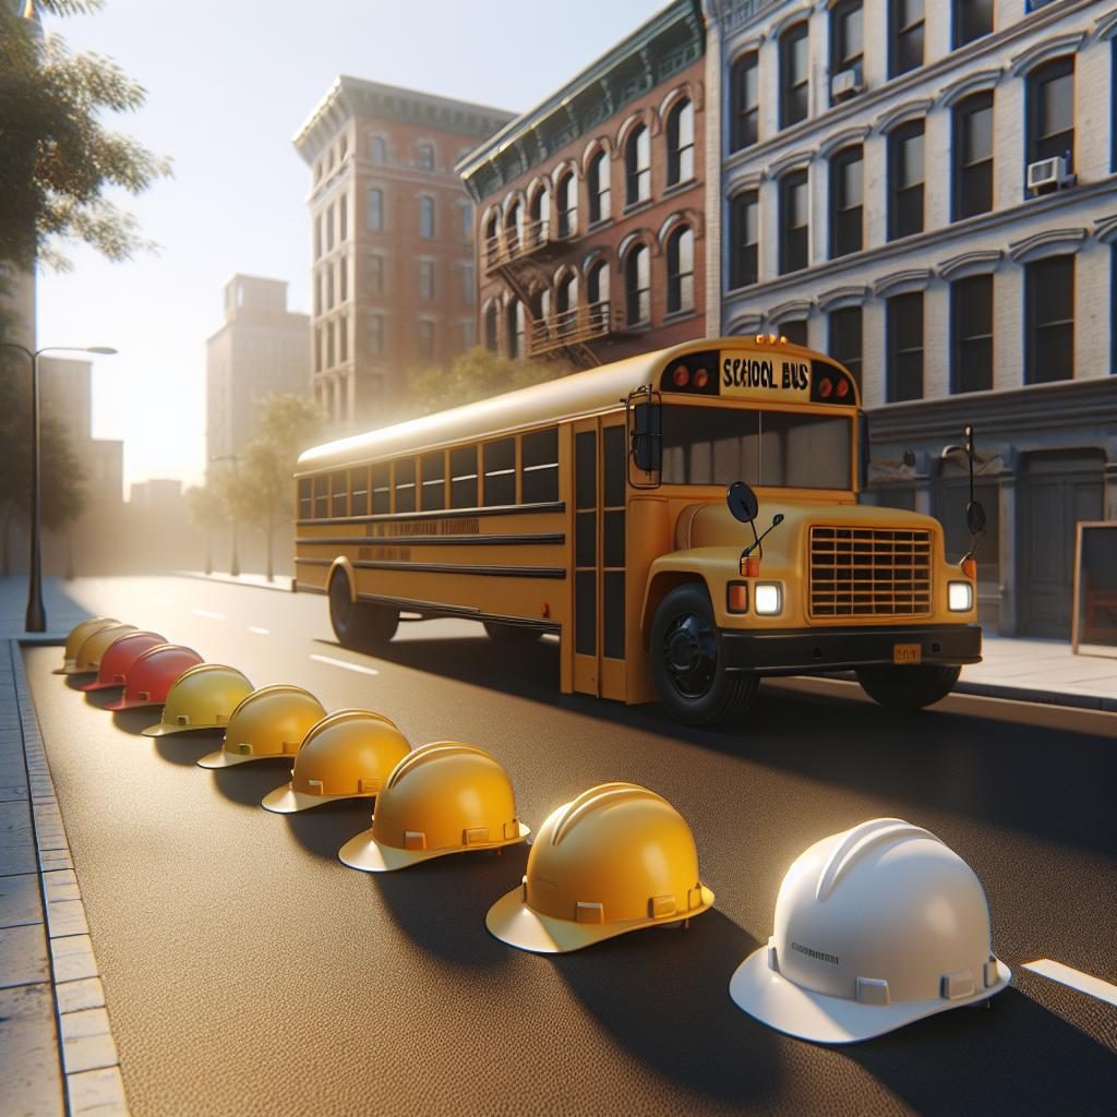
[[[472,206],[454,164],[512,114],[338,77],[294,139],[311,170],[314,394],[383,426],[409,375],[475,344]]]

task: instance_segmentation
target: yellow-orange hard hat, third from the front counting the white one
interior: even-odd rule
[[[508,773],[488,753],[436,741],[395,765],[376,796],[372,829],[337,856],[353,869],[389,872],[446,853],[513,846],[529,833],[516,818]]]

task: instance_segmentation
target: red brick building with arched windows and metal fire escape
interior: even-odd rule
[[[458,163],[490,350],[585,367],[706,333],[704,49],[676,0]]]

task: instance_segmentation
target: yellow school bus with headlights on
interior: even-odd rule
[[[849,669],[916,709],[981,660],[975,570],[937,521],[858,503],[867,441],[824,354],[690,342],[306,451],[295,589],[371,651],[401,613],[557,633],[563,693],[689,724]]]

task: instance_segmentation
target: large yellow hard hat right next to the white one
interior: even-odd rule
[[[634,783],[603,783],[552,811],[523,882],[489,908],[488,929],[523,951],[565,954],[706,911],[686,819]]]

